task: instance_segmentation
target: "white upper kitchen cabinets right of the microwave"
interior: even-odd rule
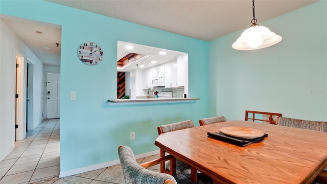
[[[185,58],[184,54],[177,56],[177,61],[165,64],[165,87],[179,87],[185,85]]]

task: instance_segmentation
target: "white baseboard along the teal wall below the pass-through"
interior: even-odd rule
[[[160,150],[151,151],[151,152],[135,155],[135,158],[136,159],[144,158],[144,157],[156,155],[156,154],[159,154],[159,153],[160,153]],[[120,160],[116,159],[116,160],[112,160],[110,162],[91,165],[91,166],[82,167],[82,168],[78,168],[78,169],[73,169],[73,170],[69,170],[69,171],[63,171],[63,172],[59,173],[59,177],[61,178],[61,177],[66,177],[66,176],[72,176],[74,174],[81,174],[81,173],[84,173],[84,172],[94,171],[94,170],[97,170],[97,169],[106,168],[106,167],[110,167],[110,166],[114,166],[114,165],[118,165],[118,164],[120,164]]]

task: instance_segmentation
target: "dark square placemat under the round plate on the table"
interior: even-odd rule
[[[213,139],[217,139],[217,140],[220,140],[220,141],[224,141],[224,142],[227,142],[227,143],[231,143],[231,144],[235,144],[235,145],[243,146],[243,147],[247,146],[247,145],[250,145],[252,143],[261,141],[265,137],[268,136],[268,134],[266,133],[263,136],[255,138],[255,139],[241,139],[240,137],[226,135],[226,134],[224,134],[224,133],[222,133],[220,131],[219,132],[214,132],[214,133],[207,132],[207,135],[208,135],[208,137],[211,137]]]

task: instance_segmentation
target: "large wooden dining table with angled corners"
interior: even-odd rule
[[[248,127],[267,133],[242,147],[207,137],[223,127]],[[327,133],[249,121],[226,121],[161,133],[154,143],[213,183],[310,183],[327,166]]]

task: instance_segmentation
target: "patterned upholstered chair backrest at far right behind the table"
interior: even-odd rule
[[[327,132],[327,122],[278,117],[277,125]]]

